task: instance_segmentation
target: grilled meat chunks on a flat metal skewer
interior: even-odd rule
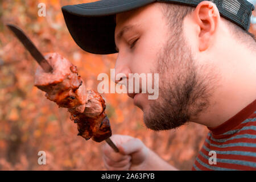
[[[44,57],[20,28],[13,24],[7,24],[7,27],[40,65],[35,73],[35,86],[46,92],[48,100],[68,109],[71,120],[77,124],[77,135],[86,140],[92,138],[95,142],[105,140],[118,152],[109,138],[112,130],[105,113],[105,101],[94,90],[86,91],[85,82],[79,76],[76,66],[57,53]]]

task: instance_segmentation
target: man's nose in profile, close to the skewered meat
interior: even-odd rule
[[[115,83],[118,84],[124,80],[124,78],[128,80],[129,73],[131,73],[131,69],[128,61],[126,59],[121,59],[121,56],[118,56],[115,61]]]

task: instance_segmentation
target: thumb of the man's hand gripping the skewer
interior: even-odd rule
[[[143,143],[137,138],[128,140],[126,143],[119,145],[119,152],[123,155],[133,154],[134,152],[140,151],[143,148]]]

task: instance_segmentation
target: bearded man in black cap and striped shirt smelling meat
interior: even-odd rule
[[[102,0],[64,6],[69,32],[85,51],[118,53],[115,73],[159,73],[159,97],[129,93],[152,130],[187,122],[209,134],[193,170],[256,169],[256,42],[246,0]],[[122,79],[115,80],[118,84]],[[110,170],[176,170],[141,140],[114,135]],[[209,164],[209,151],[217,163]]]

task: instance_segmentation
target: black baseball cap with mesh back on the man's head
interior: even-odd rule
[[[176,3],[196,7],[204,0],[101,0],[63,6],[68,30],[77,45],[86,52],[105,55],[117,53],[114,42],[115,15],[153,2]],[[254,6],[246,0],[211,0],[221,16],[244,30],[250,28]]]

